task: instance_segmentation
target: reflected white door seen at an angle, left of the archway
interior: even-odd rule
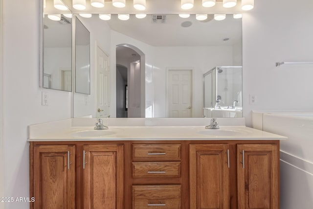
[[[110,116],[109,57],[97,47],[97,117]]]

